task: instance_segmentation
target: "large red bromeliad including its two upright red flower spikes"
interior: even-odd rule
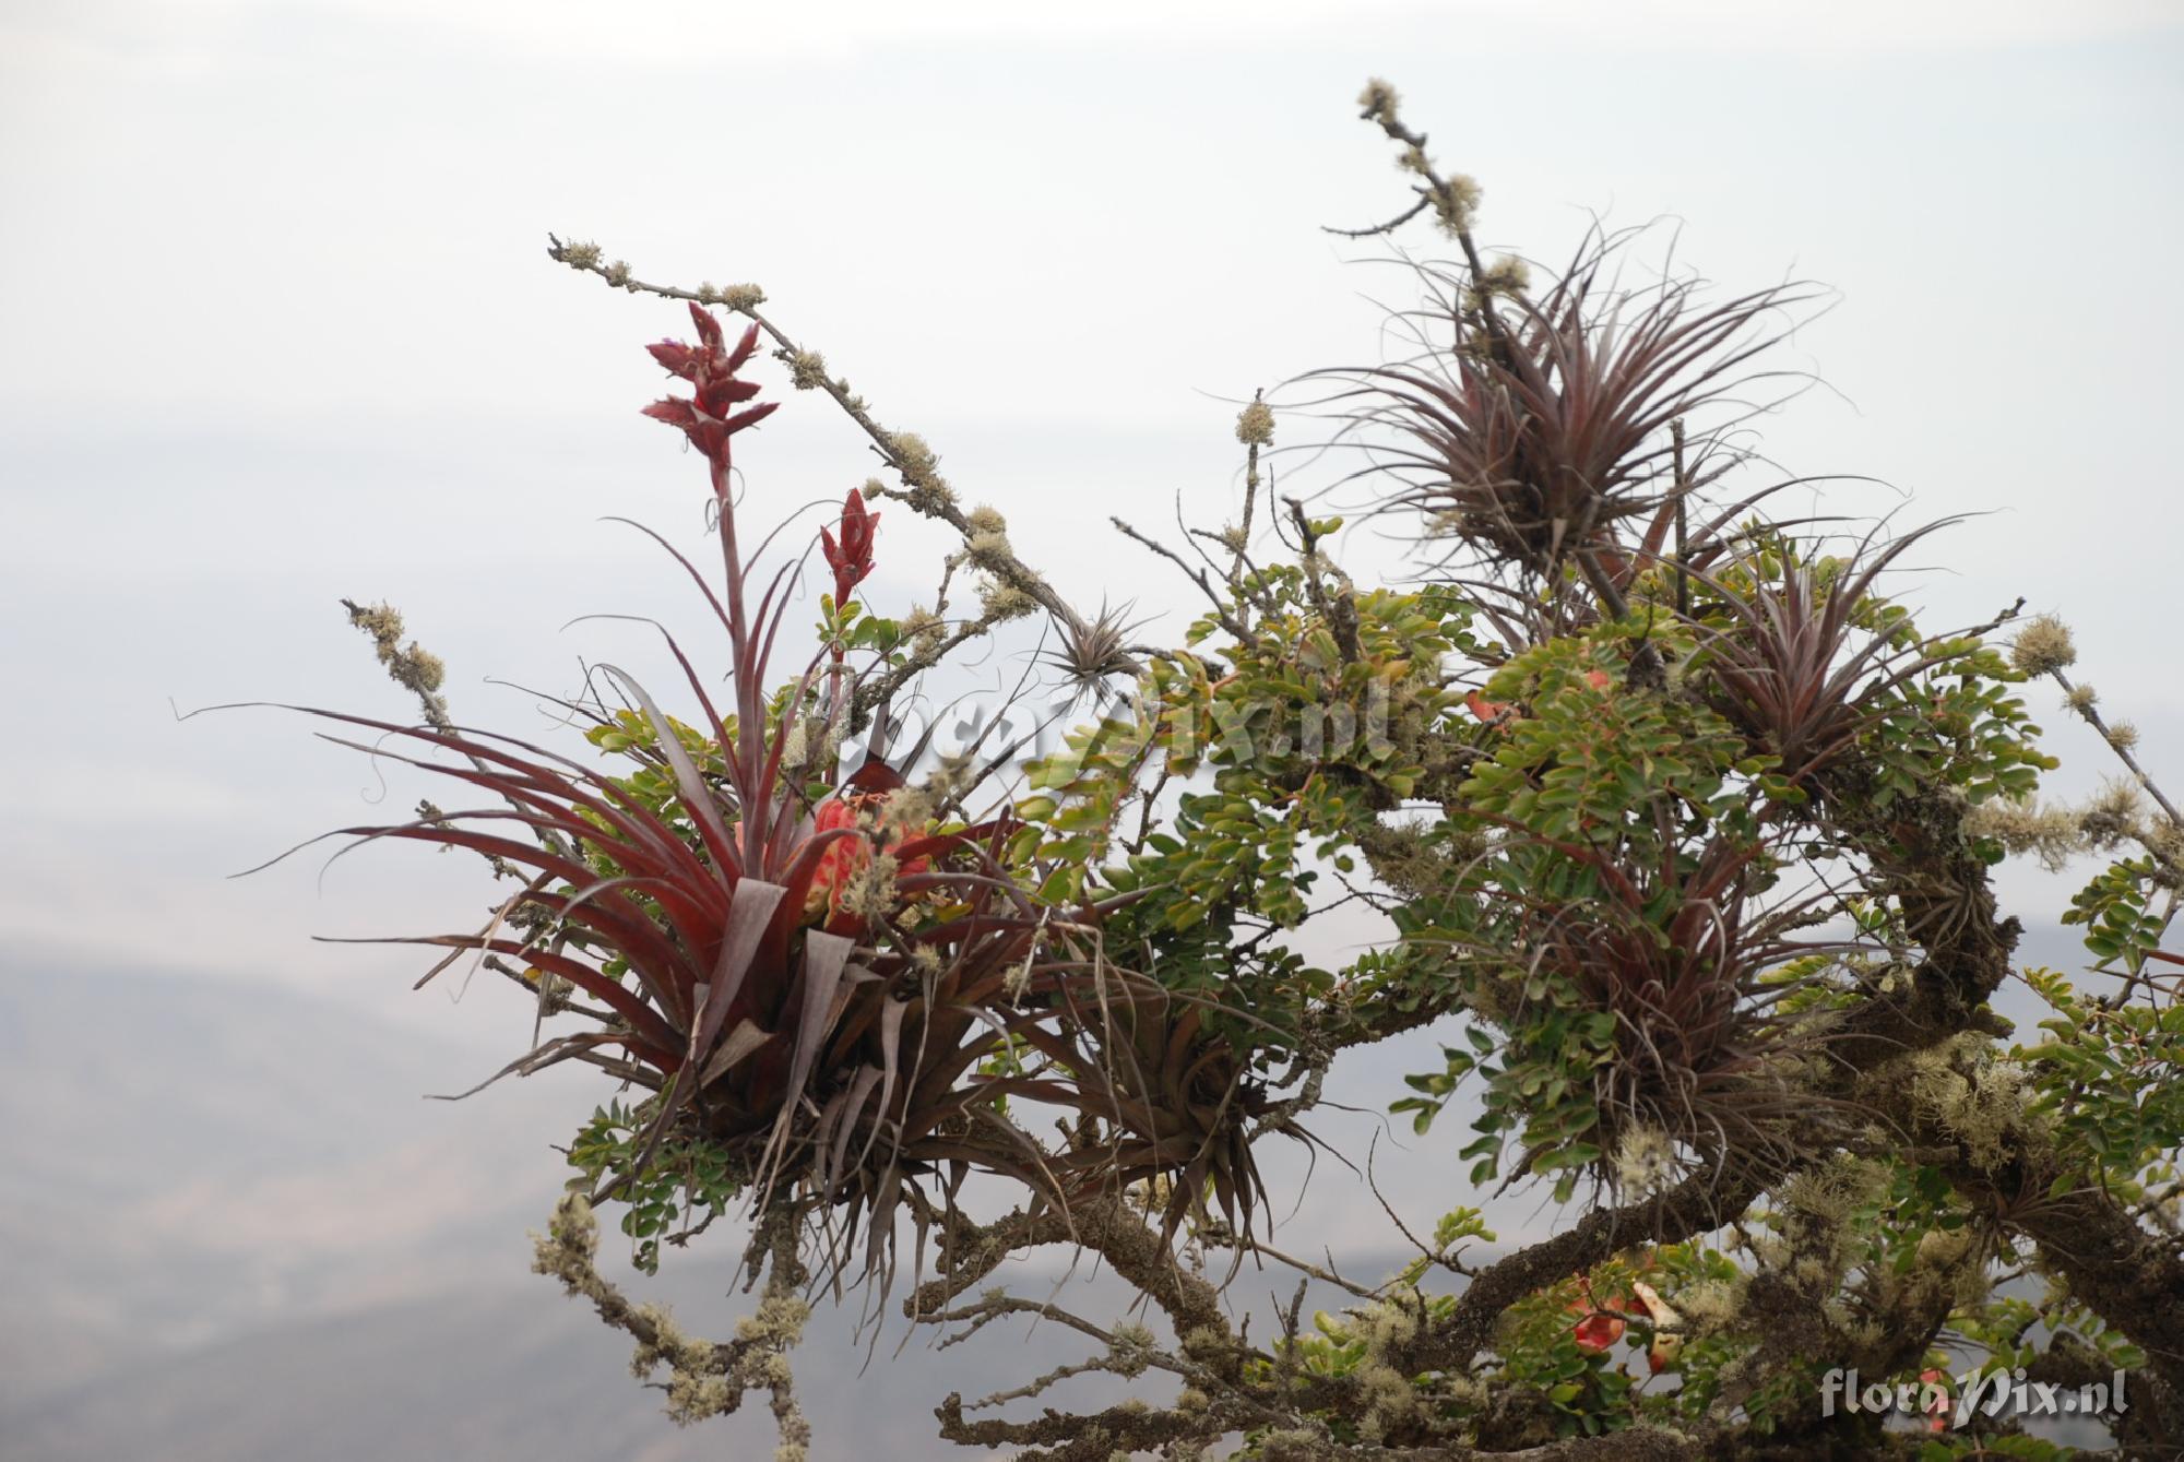
[[[454,949],[450,960],[513,960],[546,986],[598,1002],[598,1028],[544,1041],[509,1067],[590,1060],[651,1093],[625,1143],[585,1148],[590,1202],[646,1187],[662,1152],[701,1152],[712,1191],[743,1191],[760,1211],[841,1209],[828,1229],[845,1244],[860,1237],[867,1263],[891,1270],[904,1205],[919,1215],[943,1209],[943,1191],[970,1170],[1022,1183],[1035,1207],[1096,1185],[1103,1174],[1072,1174],[1064,1187],[1040,1146],[1000,1115],[1009,1095],[1068,1106],[1088,1093],[1044,1071],[983,1067],[1026,1041],[1053,1047],[1037,1028],[1077,1008],[1081,973],[1125,999],[1129,980],[1072,951],[1099,908],[1035,903],[1002,864],[1007,825],[939,820],[935,790],[909,786],[878,757],[834,786],[860,681],[850,650],[893,639],[858,637],[876,620],[852,609],[874,570],[878,513],[852,493],[821,530],[832,570],[821,607],[834,633],[775,690],[769,659],[795,565],[753,576],[729,493],[738,434],[775,406],[751,404],[758,386],[738,375],[758,325],[729,345],[710,310],[692,303],[690,316],[695,345],[649,349],[692,393],[644,415],[679,428],[710,476],[723,589],[677,561],[725,635],[727,707],[670,639],[697,727],[612,666],[601,674],[625,705],[570,707],[590,714],[596,746],[638,764],[627,777],[452,724],[336,716],[454,753],[459,762],[380,755],[505,803],[345,834],[467,849],[522,877],[487,927],[417,943]],[[1094,1074],[1103,1050],[1103,1039],[1070,1047],[1072,1069]],[[1197,1161],[1195,1150],[1162,1146],[1127,1163],[1127,1181]],[[926,1191],[935,1174],[943,1189]]]

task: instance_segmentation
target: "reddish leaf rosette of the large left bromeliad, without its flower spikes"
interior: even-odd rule
[[[655,803],[539,746],[321,714],[461,753],[456,764],[349,742],[507,799],[341,831],[467,849],[531,875],[485,930],[393,940],[456,951],[441,967],[461,951],[500,956],[598,1002],[598,1030],[555,1036],[511,1071],[607,1065],[657,1093],[655,1141],[703,1133],[745,1183],[852,1202],[876,1235],[900,1183],[935,1163],[1031,1167],[1020,1139],[950,1130],[976,1106],[965,1074],[1070,969],[1037,958],[1040,912],[974,831],[891,836],[821,803],[769,855],[745,844],[747,818],[727,820],[734,803],[695,764]],[[509,823],[531,836],[509,836]],[[743,855],[740,875],[716,849]],[[841,886],[860,886],[856,908],[832,897]]]

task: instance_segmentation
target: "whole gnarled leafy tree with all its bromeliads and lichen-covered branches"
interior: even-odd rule
[[[1420,271],[1413,358],[1302,380],[1337,382],[1319,406],[1363,454],[1334,487],[1415,561],[1367,583],[1343,515],[1271,493],[1275,415],[1254,397],[1241,513],[1190,530],[1197,563],[1118,524],[1203,594],[1179,644],[1072,607],[756,288],[644,284],[555,240],[572,268],[690,303],[697,340],[651,347],[688,395],[646,415],[708,467],[721,563],[681,567],[725,642],[723,700],[673,642],[684,720],[603,668],[612,703],[570,707],[618,759],[603,770],[456,727],[437,666],[356,609],[426,724],[334,716],[483,794],[347,831],[515,879],[483,930],[419,940],[535,986],[542,1021],[587,1021],[509,1069],[581,1060],[620,1087],[570,1146],[579,1191],[539,1268],[638,1340],[642,1373],[668,1368],[679,1421],[771,1390],[788,1462],[810,1429],[782,1351],[808,1296],[858,1253],[885,1290],[909,1233],[913,1322],[1037,1316],[1101,1346],[939,1405],[943,1438],[1026,1458],[2020,1455],[2035,1438],[1968,1410],[1944,1431],[1830,1412],[1819,1377],[2094,1362],[2129,1370],[2118,1438],[2164,1455],[2184,1442],[2184,1109],[2162,1084],[2184,1052],[2184,820],[2136,735],[2068,681],[2060,624],[2007,646],[1990,639],[2016,609],[1918,626],[1896,565],[1939,537],[1837,552],[1824,522],[1769,519],[1771,487],[1728,487],[1749,386],[1782,378],[1767,347],[1811,290],[1625,288],[1636,236],[1612,233],[1535,290],[1481,260],[1476,185],[1437,170],[1393,92],[1361,105],[1415,179],[1404,218],[1439,220],[1459,260]],[[745,373],[760,340],[893,478],[819,532],[819,644],[788,674],[771,666],[799,561],[760,572],[729,493],[773,410]],[[930,611],[860,598],[882,500],[961,541]],[[978,613],[948,620],[959,576]],[[880,755],[887,711],[1033,613],[1051,637],[1026,687],[1044,666],[1096,709],[968,814],[1000,748],[915,779]],[[2053,766],[2040,679],[2129,786],[2031,801]],[[2066,921],[2114,982],[2029,975],[2055,1019],[2014,1045],[1990,1004],[2016,978],[1990,875],[2011,853],[2108,860]],[[1387,936],[1328,958],[1339,906]],[[1463,1106],[1468,1146],[1411,1161],[1470,1202],[1431,1244],[1398,1218],[1415,1257],[1378,1287],[1291,1257],[1260,1143],[1319,1141],[1348,1058],[1424,1030],[1444,1058],[1393,1111],[1439,1141]],[[1481,1207],[1535,1181],[1559,1231],[1481,1257]],[[747,1209],[767,1292],[736,1340],[692,1342],[598,1274],[609,1202],[644,1266]],[[989,1287],[1044,1246],[1094,1250],[1166,1335]],[[1306,1287],[1238,1320],[1219,1250],[1227,1274],[1251,1259]],[[2040,1301],[2001,1287],[2033,1277]],[[1310,1285],[1345,1311],[1306,1325]],[[974,1416],[1085,1373],[1131,1401]]]

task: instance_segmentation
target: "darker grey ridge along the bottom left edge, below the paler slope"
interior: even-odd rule
[[[1059,1342],[1057,1342],[1059,1344]],[[629,1346],[546,1283],[284,1327],[129,1368],[4,1418],[13,1462],[684,1462],[764,1458],[773,1418],[679,1429]],[[933,1370],[845,1346],[799,1357],[815,1462],[943,1458]],[[1029,1359],[1029,1357],[1026,1357]],[[911,1373],[928,1381],[917,1388]]]

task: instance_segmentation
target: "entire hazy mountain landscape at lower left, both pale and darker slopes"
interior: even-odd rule
[[[0,1455],[771,1455],[762,1403],[677,1429],[629,1377],[629,1340],[526,1272],[524,1233],[566,1172],[548,1141],[603,1093],[535,1080],[419,1100],[478,1067],[275,988],[0,978]],[[670,1257],[638,1290],[727,1333],[749,1307],[732,1279],[712,1257]],[[1101,1316],[1127,1303],[1105,1285],[1092,1301]],[[891,1359],[898,1327],[867,1366],[850,1329],[821,1309],[797,1357],[815,1462],[961,1458],[933,1438],[950,1388],[1083,1355],[1048,1325],[992,1327],[939,1362],[922,1335]]]

